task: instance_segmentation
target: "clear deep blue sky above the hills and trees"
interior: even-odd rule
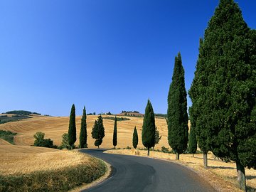
[[[256,1],[236,0],[250,28]],[[218,0],[0,0],[0,112],[166,113],[174,57],[186,90]],[[188,105],[191,105],[188,99]]]

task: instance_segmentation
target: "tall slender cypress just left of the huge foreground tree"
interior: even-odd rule
[[[188,144],[188,112],[184,69],[181,53],[175,57],[174,74],[168,94],[168,142],[176,153],[176,159],[186,151]]]

